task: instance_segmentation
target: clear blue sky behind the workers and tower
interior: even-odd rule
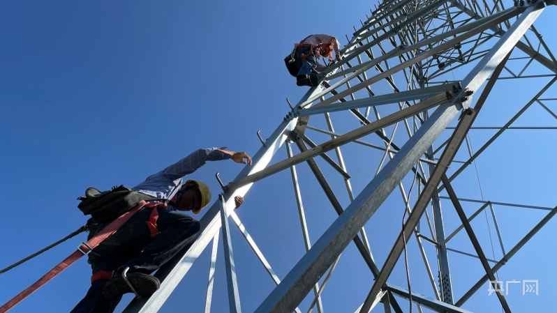
[[[88,187],[135,185],[196,148],[228,146],[231,150],[254,154],[260,148],[257,130],[261,130],[263,138],[269,136],[289,111],[285,98],[295,103],[307,90],[295,86],[295,79],[283,66],[283,58],[292,44],[311,33],[330,33],[341,38],[345,45],[345,34],[352,37],[352,25],[364,20],[375,3],[350,1],[340,8],[338,1],[329,0],[0,2],[0,196],[3,199],[0,268],[82,226],[87,217],[77,210],[75,198]],[[547,15],[554,11],[554,8],[547,9],[540,23],[549,20]],[[542,31],[542,26],[539,29],[550,46],[556,42],[551,37],[554,35]],[[525,94],[524,98],[531,96]],[[528,121],[535,120],[533,116]],[[549,120],[548,123],[555,124]],[[537,134],[529,133],[526,138],[532,139],[530,136],[537,137]],[[548,138],[551,139],[539,144],[551,146],[554,137]],[[544,150],[546,159],[540,161],[540,155],[535,155],[537,146],[525,142],[521,149],[524,150],[519,160],[532,162],[535,168],[523,169],[517,165],[512,171],[519,174],[522,170],[530,174],[544,171],[540,174],[540,185],[535,181],[520,181],[511,174],[509,179],[516,179],[515,185],[530,185],[534,197],[528,191],[514,192],[516,197],[512,199],[490,199],[554,206],[554,196],[549,197],[547,193],[554,190],[551,186],[555,185],[557,171],[554,165],[545,163],[551,161],[549,155],[554,153]],[[285,151],[279,152],[283,158]],[[214,179],[216,171],[228,183],[240,169],[241,165],[231,161],[212,162],[191,178],[206,181],[216,196],[220,189]],[[501,174],[498,170],[502,169],[483,170],[482,178],[489,181],[489,177]],[[310,177],[311,172],[305,167],[299,175]],[[488,183],[482,187],[489,190],[493,186]],[[309,199],[313,199],[313,190],[309,194]],[[498,195],[498,188],[493,188],[493,194]],[[319,197],[322,194],[315,193],[315,199]],[[309,200],[304,206],[312,204],[318,205]],[[329,206],[325,209],[327,213],[309,213],[310,227],[314,227],[316,234],[313,241],[332,219],[332,209]],[[269,259],[287,260],[272,263],[283,278],[303,254],[290,174],[285,171],[254,187],[246,195],[246,204],[239,214],[246,219],[246,224],[252,223],[254,238]],[[530,227],[543,216],[533,214]],[[321,215],[325,215],[323,221],[327,222],[320,220]],[[258,221],[249,220],[250,216],[274,221],[265,223],[266,227],[274,226],[260,229]],[[380,224],[381,216],[374,217],[379,221],[376,224]],[[512,233],[516,221],[511,217],[506,230]],[[383,248],[377,241],[373,243],[383,230],[368,231],[377,250],[390,248],[391,241]],[[554,235],[555,231],[549,233],[545,229],[538,236]],[[516,240],[518,236],[523,234],[517,234]],[[5,303],[73,252],[84,237],[82,234],[73,238],[0,275],[0,303]],[[266,277],[237,229],[232,240],[237,243],[235,256],[245,260],[237,261],[242,308],[251,312],[272,290],[272,280]],[[521,259],[517,256],[519,266],[512,268],[512,274],[505,279],[543,279],[540,296],[521,298],[517,291],[513,301],[519,307],[528,307],[532,302],[549,305],[551,293],[557,291],[554,279],[549,279],[554,278],[551,267],[554,252],[544,241],[537,241],[528,249]],[[378,252],[380,260],[387,252]],[[202,312],[209,253],[202,254],[161,312]],[[353,245],[344,254],[347,258],[359,257]],[[470,262],[461,256],[454,259],[456,266]],[[548,261],[535,261],[540,262],[536,268],[528,266],[538,259]],[[475,264],[476,270],[478,265],[479,262]],[[226,312],[228,300],[222,259],[216,270],[214,312]],[[462,268],[457,267],[456,271],[466,274]],[[371,288],[371,274],[339,268],[336,275],[346,283],[327,291],[332,300],[325,302],[325,309],[328,308],[327,312],[355,310],[357,305],[343,305],[342,297],[357,295],[363,300]],[[84,296],[89,277],[89,265],[81,259],[11,312],[68,312]],[[413,281],[416,286],[429,284],[418,282],[421,280],[418,277]],[[399,274],[397,279],[398,284],[406,286],[404,275]],[[459,287],[462,289],[466,287]],[[487,295],[487,286],[484,289]],[[118,310],[129,299],[124,298]],[[496,297],[477,299],[477,303],[496,303]],[[470,310],[477,307],[472,306]]]

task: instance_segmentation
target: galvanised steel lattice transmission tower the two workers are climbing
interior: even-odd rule
[[[487,293],[488,286],[498,310],[511,312],[499,270],[512,264],[557,207],[551,197],[542,205],[484,197],[487,185],[479,182],[504,189],[510,178],[505,173],[486,177],[477,162],[496,170],[498,162],[511,158],[504,149],[498,152],[500,139],[526,129],[526,137],[539,138],[555,129],[557,99],[550,93],[556,89],[557,61],[533,26],[544,10],[554,10],[546,8],[551,4],[555,1],[381,3],[352,38],[346,37],[343,59],[323,72],[322,84],[292,105],[268,139],[260,137],[254,165],[223,187],[224,204],[216,201],[202,217],[198,240],[158,271],[161,289],[149,300],[134,300],[125,312],[156,312],[187,280],[204,250],[216,258],[219,230],[230,312],[241,311],[240,299],[249,295],[237,284],[242,277],[235,269],[243,256],[232,254],[235,225],[276,283],[255,312],[305,312],[313,298],[315,310],[327,311],[321,296],[340,280],[327,281],[336,266],[366,277],[340,282],[343,288],[364,286],[357,296],[342,299],[343,312],[408,312],[409,301],[420,312],[468,312],[473,296]],[[519,92],[523,79],[537,80]],[[528,115],[536,123],[515,123]],[[519,145],[523,137],[516,138],[510,140]],[[518,147],[515,152],[518,158],[530,155]],[[487,153],[495,156],[483,158]],[[544,147],[530,147],[528,153],[543,155]],[[298,177],[302,166],[313,176]],[[556,174],[556,166],[548,164],[547,171]],[[244,196],[254,183],[279,172],[292,176],[300,241],[307,249],[290,261],[283,277],[273,270],[281,259],[263,253],[272,248],[256,245],[269,238],[251,236],[249,225],[232,210],[235,195]],[[541,173],[529,175],[516,184],[535,183]],[[317,196],[309,194],[315,189]],[[327,205],[307,201],[313,197]],[[507,214],[505,208],[542,215],[522,227],[519,238],[507,240],[497,218]],[[315,212],[329,218],[317,235],[308,217]],[[382,224],[389,231],[380,229]],[[212,288],[209,284],[207,308]]]

